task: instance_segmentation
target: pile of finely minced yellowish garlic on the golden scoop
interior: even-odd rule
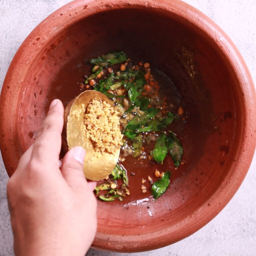
[[[118,114],[106,101],[94,99],[88,105],[84,128],[86,138],[94,143],[96,152],[114,154],[116,147],[122,144]]]

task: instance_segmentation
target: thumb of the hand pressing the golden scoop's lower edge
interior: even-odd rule
[[[90,190],[94,190],[96,182],[86,181],[84,176],[84,157],[85,149],[83,147],[73,147],[64,156],[61,164],[61,172],[71,188],[78,188],[81,186],[89,186]],[[95,183],[95,184],[94,184]]]

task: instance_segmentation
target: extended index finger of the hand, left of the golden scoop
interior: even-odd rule
[[[60,100],[52,101],[46,118],[37,134],[31,159],[43,163],[59,163],[64,107]]]

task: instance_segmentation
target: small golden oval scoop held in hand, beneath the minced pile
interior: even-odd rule
[[[81,146],[86,150],[84,159],[84,174],[90,180],[102,180],[114,169],[120,154],[120,145],[114,150],[114,154],[103,152],[96,156],[91,139],[86,138],[84,125],[84,111],[81,111],[82,104],[85,109],[93,99],[106,101],[113,107],[107,96],[101,92],[88,90],[79,94],[65,108],[64,129],[62,133],[62,148],[66,152],[75,146]],[[73,111],[79,112],[79,116],[71,115]],[[119,125],[118,125],[119,126]],[[120,129],[120,126],[119,126]]]

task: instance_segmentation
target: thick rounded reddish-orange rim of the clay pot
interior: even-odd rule
[[[230,163],[229,169],[232,172],[230,171],[227,174],[209,200],[179,223],[166,227],[161,231],[141,234],[140,236],[125,236],[123,238],[120,238],[118,235],[112,235],[111,231],[109,234],[98,232],[92,245],[92,247],[97,249],[120,252],[153,250],[177,242],[202,228],[226,206],[240,187],[250,167],[255,150],[256,123],[253,122],[250,115],[250,113],[256,112],[255,88],[249,70],[231,39],[210,18],[194,7],[180,0],[173,0],[172,2],[164,0],[148,0],[147,2],[142,0],[105,0],[104,4],[98,7],[99,5],[99,2],[76,0],[61,7],[42,21],[18,49],[6,74],[0,97],[2,106],[0,113],[0,147],[2,157],[7,173],[11,176],[20,157],[18,134],[16,133],[16,118],[14,117],[16,113],[19,113],[18,102],[22,96],[19,95],[23,89],[22,81],[25,79],[29,67],[40,54],[42,46],[48,44],[56,34],[85,17],[110,10],[110,8],[111,10],[120,8],[153,8],[182,17],[184,21],[188,21],[199,29],[204,36],[215,43],[216,47],[222,52],[223,58],[228,60],[230,69],[239,81],[239,90],[244,95],[240,105],[240,108],[244,111],[244,116],[240,120],[242,133],[234,154],[237,159],[239,157],[239,161]],[[75,14],[75,12],[77,13]],[[72,15],[69,16],[69,14]],[[53,27],[55,29],[52,29]],[[9,153],[7,154],[7,152]],[[211,204],[211,207],[209,207],[208,203],[214,202],[216,198],[218,198],[218,202],[221,202],[221,204]],[[111,243],[109,243],[110,241]]]

